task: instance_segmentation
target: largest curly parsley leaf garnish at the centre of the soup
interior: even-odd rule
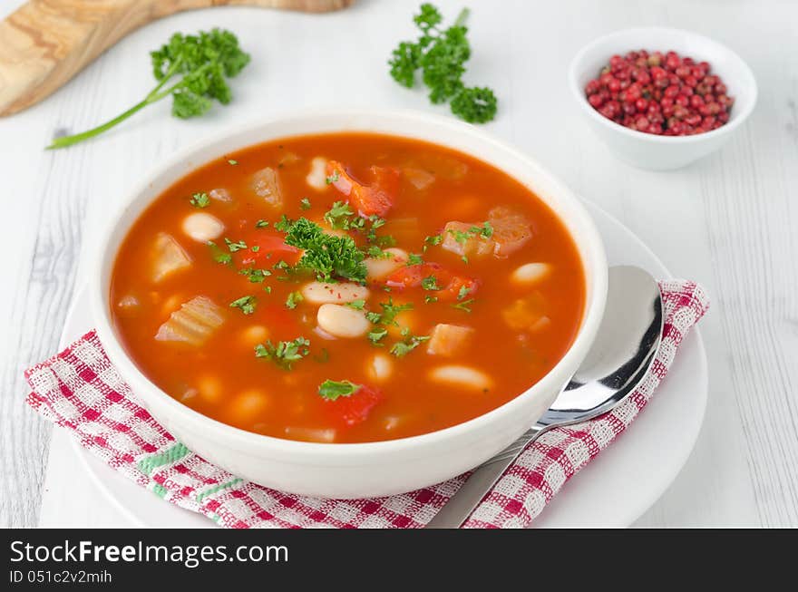
[[[319,281],[334,281],[336,277],[365,281],[363,251],[350,237],[328,235],[315,222],[299,218],[288,229],[286,244],[305,250],[297,267],[313,271]]]

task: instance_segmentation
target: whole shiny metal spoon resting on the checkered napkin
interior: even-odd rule
[[[654,361],[662,326],[662,295],[657,281],[639,267],[610,267],[607,306],[599,333],[576,374],[543,417],[507,449],[473,471],[426,528],[459,527],[541,433],[584,422],[626,399]]]

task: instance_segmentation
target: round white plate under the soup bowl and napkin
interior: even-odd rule
[[[659,259],[618,220],[586,203],[604,239],[610,265],[631,264],[655,277],[671,277]],[[92,328],[88,295],[76,296],[67,316],[61,347]],[[579,472],[535,521],[537,528],[626,527],[650,508],[685,464],[704,420],[707,399],[706,353],[697,330],[683,342],[676,363],[657,394],[625,434]],[[676,429],[677,427],[677,429]],[[95,489],[120,511],[128,527],[213,527],[214,523],[163,501],[112,471],[70,438],[72,451]],[[51,461],[54,454],[51,454]],[[73,476],[77,478],[77,476]],[[66,484],[64,483],[64,486]],[[75,503],[90,503],[89,500]],[[89,510],[91,511],[91,510]]]

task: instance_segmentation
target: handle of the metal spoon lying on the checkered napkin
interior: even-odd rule
[[[482,501],[485,494],[491,490],[496,481],[507,468],[515,461],[530,442],[546,432],[553,425],[543,425],[536,423],[530,430],[513,442],[509,447],[512,453],[500,452],[490,461],[485,462],[475,469],[467,480],[460,486],[460,489],[449,499],[445,506],[433,516],[428,523],[427,529],[457,529],[471,515],[477,504]]]

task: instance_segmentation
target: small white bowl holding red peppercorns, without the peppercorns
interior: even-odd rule
[[[657,136],[634,131],[610,121],[593,109],[585,95],[585,85],[618,53],[646,49],[649,52],[673,50],[697,62],[706,61],[719,75],[734,97],[729,121],[713,131],[692,136]],[[754,111],[756,80],[754,73],[735,52],[704,35],[668,29],[641,27],[625,29],[600,37],[584,47],[570,63],[569,86],[574,99],[592,130],[618,158],[647,170],[673,170],[685,167],[720,148]]]

